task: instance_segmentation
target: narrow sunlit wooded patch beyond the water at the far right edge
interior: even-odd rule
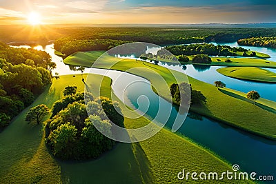
[[[239,45],[276,48],[276,37],[253,37],[250,39],[240,39],[237,43],[239,43]]]

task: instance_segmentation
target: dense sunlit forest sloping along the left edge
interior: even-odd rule
[[[0,127],[8,125],[51,83],[50,66],[54,65],[46,52],[0,42]]]

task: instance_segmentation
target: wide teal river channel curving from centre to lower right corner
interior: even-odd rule
[[[105,70],[93,69],[93,73],[105,74]],[[158,115],[157,118],[157,121],[162,124],[166,123],[166,127],[171,128],[177,115],[179,115],[177,109],[168,101],[157,96],[155,92],[152,92],[150,83],[145,82],[145,79],[124,73],[124,77],[118,80],[121,74],[122,72],[118,71],[109,71],[107,74],[114,82],[112,89],[116,96],[121,101],[124,100],[127,105],[134,106],[141,113],[144,112],[152,118],[157,116],[159,106],[166,108],[168,111],[171,110],[168,121],[164,121],[166,119],[164,116]],[[137,81],[137,79],[140,82],[128,85],[130,81]],[[117,80],[119,82],[116,82]],[[128,97],[128,101],[122,97],[124,96],[122,95],[123,91]],[[143,98],[139,98],[140,96],[143,96]],[[186,115],[180,116],[184,119]],[[217,123],[198,114],[189,114],[177,132],[193,139],[204,147],[208,147],[208,149],[230,163],[238,164],[246,172],[276,176],[275,141],[263,139],[223,123]],[[196,158],[195,161],[197,161]]]

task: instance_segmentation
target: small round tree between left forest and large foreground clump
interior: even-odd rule
[[[30,109],[25,120],[29,122],[35,122],[39,125],[43,117],[48,114],[50,114],[50,110],[46,105],[37,105],[36,107]]]

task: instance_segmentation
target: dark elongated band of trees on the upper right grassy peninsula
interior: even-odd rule
[[[174,55],[206,54],[208,56],[237,56],[235,52],[246,52],[244,48],[231,48],[228,45],[213,45],[208,43],[190,45],[172,45],[166,47]]]

